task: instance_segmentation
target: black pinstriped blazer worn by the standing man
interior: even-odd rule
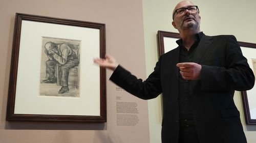
[[[110,80],[127,92],[152,99],[162,93],[162,142],[175,143],[179,137],[179,47],[162,56],[145,81],[118,66]],[[203,36],[195,63],[202,65],[201,80],[190,80],[195,127],[203,143],[244,143],[246,137],[240,113],[234,104],[234,90],[250,90],[254,75],[234,36]]]

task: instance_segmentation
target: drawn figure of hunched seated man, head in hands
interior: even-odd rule
[[[77,66],[79,60],[76,53],[67,44],[56,44],[47,42],[45,44],[45,53],[49,60],[46,61],[46,73],[49,74],[48,79],[43,80],[44,83],[56,83],[55,66],[61,65],[60,71],[60,85],[59,94],[69,92],[68,76],[69,69]]]

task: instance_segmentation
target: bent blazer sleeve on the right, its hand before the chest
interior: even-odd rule
[[[230,36],[226,43],[225,59],[223,60],[225,60],[223,67],[202,65],[202,90],[245,91],[253,88],[254,74],[234,36]]]

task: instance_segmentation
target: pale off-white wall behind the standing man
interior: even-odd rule
[[[178,31],[172,26],[172,12],[180,1],[143,0],[146,72],[149,75],[158,60],[157,31]],[[206,35],[231,34],[238,41],[256,43],[256,1],[192,1],[198,5],[201,15],[201,31]],[[241,120],[248,143],[256,142],[256,126],[246,125],[240,92],[234,100],[240,110]],[[161,142],[161,98],[148,101],[150,115],[151,143]]]

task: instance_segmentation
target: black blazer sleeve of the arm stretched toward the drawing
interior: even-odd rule
[[[159,69],[158,62],[153,73],[143,81],[119,65],[111,75],[110,80],[138,98],[153,99],[162,92]]]

